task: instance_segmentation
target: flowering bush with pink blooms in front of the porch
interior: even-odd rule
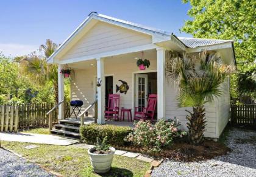
[[[155,125],[149,120],[140,120],[135,122],[135,128],[125,138],[125,141],[132,142],[149,153],[158,153],[163,147],[172,144],[173,137],[187,135],[185,131],[178,130],[179,125],[176,119],[168,121],[161,119]]]

